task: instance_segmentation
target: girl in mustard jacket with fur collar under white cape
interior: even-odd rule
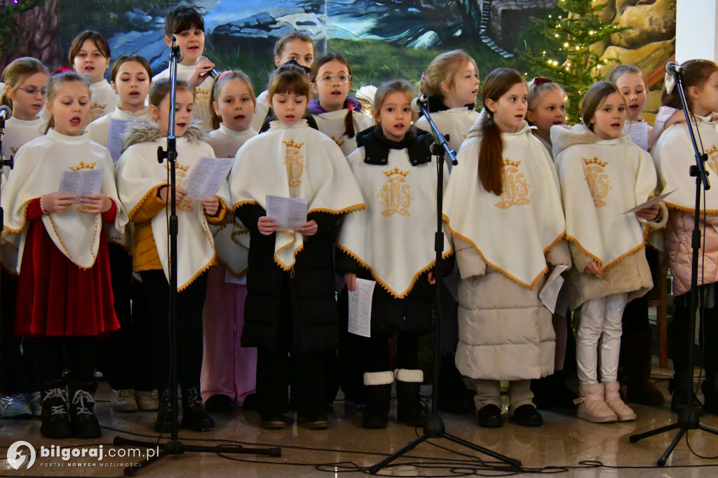
[[[154,379],[159,411],[154,430],[169,431],[169,259],[167,250],[167,161],[157,162],[158,146],[167,146],[169,110],[174,108],[177,136],[177,378],[182,387],[182,426],[205,431],[215,426],[200,395],[202,367],[202,306],[207,290],[207,269],[215,261],[214,240],[209,225],[220,225],[229,202],[226,184],[213,197],[186,197],[183,185],[201,157],[214,157],[212,147],[202,141],[201,128],[192,123],[194,88],[177,81],[177,98],[170,104],[169,80],[157,80],[149,91],[149,123],[136,122],[126,133],[126,151],[117,163],[117,184],[123,204],[134,223],[132,259],[147,297],[154,340]]]

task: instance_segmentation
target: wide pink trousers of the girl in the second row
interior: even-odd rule
[[[241,406],[256,390],[257,350],[240,345],[247,286],[226,283],[225,268],[210,268],[202,310],[202,400],[227,395]]]

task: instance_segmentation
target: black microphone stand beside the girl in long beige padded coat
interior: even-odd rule
[[[434,298],[434,371],[432,377],[432,409],[426,414],[426,423],[424,423],[424,434],[418,436],[409,444],[406,444],[402,449],[396,451],[391,456],[383,459],[382,461],[369,467],[370,474],[377,474],[379,470],[388,466],[391,461],[394,461],[399,456],[404,455],[407,451],[414,449],[421,442],[426,439],[438,439],[443,438],[449,441],[453,441],[455,444],[460,444],[474,451],[478,451],[482,454],[491,456],[492,458],[504,461],[509,464],[510,467],[506,467],[507,471],[513,469],[513,467],[521,467],[521,461],[508,456],[499,454],[496,451],[484,448],[477,444],[473,444],[470,441],[460,439],[458,436],[447,434],[446,427],[444,426],[444,420],[439,415],[439,343],[441,336],[441,320],[442,320],[442,307],[441,307],[441,286],[444,283],[442,278],[442,253],[444,251],[444,230],[442,229],[443,221],[443,203],[444,203],[444,154],[449,155],[452,165],[456,166],[459,162],[456,160],[454,151],[449,148],[447,140],[444,135],[439,131],[437,125],[432,121],[432,117],[429,115],[429,110],[426,108],[427,101],[429,98],[426,95],[421,95],[416,101],[417,106],[421,108],[421,112],[426,116],[426,120],[429,121],[429,126],[432,128],[434,134],[434,144],[432,145],[432,154],[437,156],[437,232],[434,233],[434,250],[437,253],[436,266],[434,267],[434,276],[436,278],[435,284],[435,298]]]

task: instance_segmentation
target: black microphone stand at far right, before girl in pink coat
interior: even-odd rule
[[[706,426],[700,423],[698,419],[698,413],[694,406],[693,400],[693,350],[694,350],[694,337],[696,335],[696,311],[698,309],[698,258],[699,248],[701,247],[701,230],[700,230],[700,214],[701,214],[701,185],[705,190],[710,189],[711,185],[708,182],[708,172],[705,169],[704,162],[708,160],[707,154],[701,154],[696,144],[696,137],[693,133],[693,125],[691,124],[691,116],[689,115],[689,103],[686,100],[686,94],[684,91],[684,78],[682,72],[674,73],[676,78],[676,86],[678,88],[679,96],[681,97],[681,104],[683,105],[683,111],[686,113],[686,122],[688,124],[688,131],[691,135],[691,143],[693,144],[693,151],[696,156],[696,164],[692,165],[689,170],[691,177],[696,178],[696,207],[694,209],[694,225],[693,234],[691,235],[691,248],[693,248],[693,256],[691,258],[691,291],[689,292],[688,299],[688,360],[686,360],[686,370],[684,377],[684,387],[686,388],[686,403],[678,413],[678,421],[671,423],[670,425],[661,426],[651,431],[646,431],[642,434],[631,435],[629,440],[631,443],[635,443],[638,440],[647,438],[648,436],[662,434],[666,431],[678,430],[676,436],[673,437],[671,443],[668,444],[668,448],[663,452],[661,458],[656,461],[659,467],[663,467],[668,460],[668,456],[673,453],[673,449],[676,448],[678,442],[681,441],[681,437],[684,436],[689,430],[703,430],[710,434],[718,435],[718,429]],[[696,128],[697,129],[697,128]]]

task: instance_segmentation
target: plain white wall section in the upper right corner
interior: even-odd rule
[[[676,60],[704,58],[718,62],[718,1],[678,0]]]

